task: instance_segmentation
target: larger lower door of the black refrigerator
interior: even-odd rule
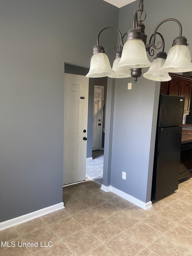
[[[159,128],[152,181],[154,200],[178,189],[181,136],[182,126]]]

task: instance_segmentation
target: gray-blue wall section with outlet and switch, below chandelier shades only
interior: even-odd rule
[[[132,89],[128,90],[130,82]],[[158,96],[155,82],[144,82],[143,77],[136,84],[132,78],[116,80],[111,185],[147,202],[148,173],[152,176],[153,167],[153,158],[149,162],[151,140],[155,145],[155,127],[151,137],[154,98]],[[126,172],[126,180],[122,179],[122,171]]]

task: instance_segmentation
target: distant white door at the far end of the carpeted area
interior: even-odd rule
[[[94,87],[94,106],[93,106],[93,146],[92,150],[101,149],[102,127],[103,127],[103,93],[104,87]]]

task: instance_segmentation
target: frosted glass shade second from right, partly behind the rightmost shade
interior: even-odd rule
[[[171,77],[168,72],[159,71],[159,69],[164,65],[165,59],[157,58],[152,62],[152,66],[149,70],[143,74],[143,76],[149,80],[153,81],[170,81]]]

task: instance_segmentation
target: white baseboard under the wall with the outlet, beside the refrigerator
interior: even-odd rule
[[[141,200],[139,200],[139,199],[137,199],[137,198],[135,198],[135,197],[133,197],[133,196],[131,196],[131,195],[129,195],[129,194],[119,190],[119,189],[117,189],[117,188],[114,188],[112,186],[101,185],[101,189],[103,191],[105,191],[105,192],[111,191],[114,194],[116,194],[116,195],[118,195],[118,196],[128,200],[131,203],[134,203],[135,205],[139,206],[140,208],[142,208],[144,210],[147,210],[147,209],[153,207],[151,201],[149,201],[147,203],[144,203],[143,201],[141,201]]]

